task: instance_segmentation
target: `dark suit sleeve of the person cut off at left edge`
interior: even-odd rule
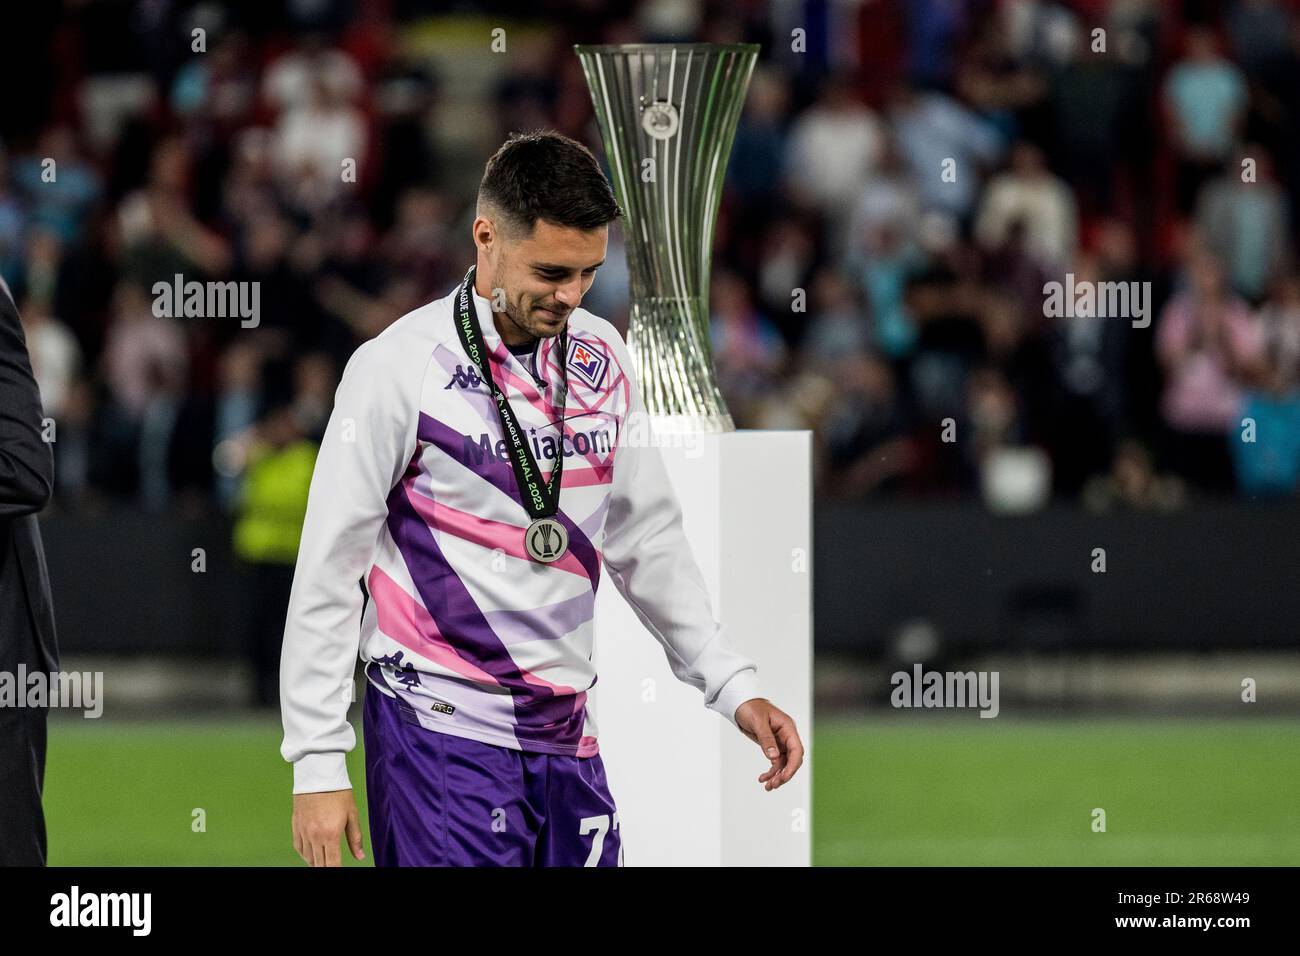
[[[49,502],[55,458],[40,434],[43,418],[18,310],[0,282],[0,519],[36,514]]]

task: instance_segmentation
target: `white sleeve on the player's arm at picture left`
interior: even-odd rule
[[[422,367],[400,342],[352,355],[334,395],[307,498],[280,661],[281,756],[294,792],[348,790],[347,721],[360,645],[359,581],[387,516],[387,496],[415,454]]]

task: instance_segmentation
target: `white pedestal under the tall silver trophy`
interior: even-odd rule
[[[768,761],[699,691],[606,578],[597,592],[593,688],[601,757],[627,866],[807,866],[812,831],[811,432],[662,441],[686,537],[728,640],[763,696],[794,718],[803,766],[776,791]]]

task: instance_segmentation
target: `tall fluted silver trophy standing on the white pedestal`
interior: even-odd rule
[[[625,217],[632,352],[667,432],[731,432],[708,329],[708,271],[727,159],[757,43],[573,47]]]

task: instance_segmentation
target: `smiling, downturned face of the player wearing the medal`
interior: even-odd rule
[[[474,224],[476,237],[480,225]],[[556,226],[537,220],[533,234],[519,242],[504,242],[494,230],[488,258],[491,264],[491,293],[504,290],[504,313],[498,313],[498,325],[507,341],[521,338],[524,333],[534,338],[549,338],[564,330],[569,312],[578,307],[586,290],[595,281],[595,271],[604,261],[610,228],[580,230]]]

